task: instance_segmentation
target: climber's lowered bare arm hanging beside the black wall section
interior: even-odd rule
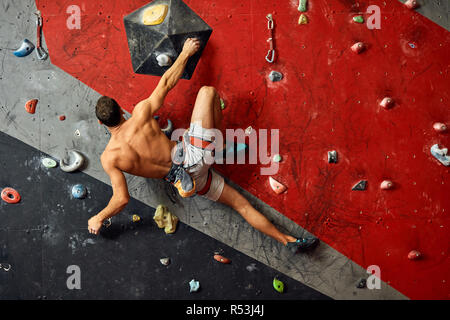
[[[98,234],[103,225],[103,221],[122,211],[130,200],[127,181],[122,171],[108,165],[104,165],[104,168],[111,179],[113,196],[105,209],[89,219],[88,229],[93,234]]]

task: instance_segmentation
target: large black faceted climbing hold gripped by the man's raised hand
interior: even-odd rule
[[[159,24],[145,25],[143,12],[156,5],[168,5],[167,16]],[[155,76],[162,76],[169,68],[158,64],[158,56],[164,54],[174,61],[186,39],[197,38],[200,50],[189,59],[182,75],[190,79],[212,33],[211,27],[181,0],[152,1],[127,15],[124,23],[134,72]]]

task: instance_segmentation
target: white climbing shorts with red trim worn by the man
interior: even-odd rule
[[[196,193],[212,201],[219,199],[225,185],[223,177],[211,168],[214,162],[215,133],[215,130],[191,123],[183,135],[183,167],[195,180]]]

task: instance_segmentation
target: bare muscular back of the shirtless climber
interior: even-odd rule
[[[146,102],[140,102],[140,104]],[[139,104],[136,108],[148,106]],[[161,131],[153,117],[133,115],[111,137],[101,156],[103,166],[146,178],[164,178],[172,164],[171,150],[176,144]]]

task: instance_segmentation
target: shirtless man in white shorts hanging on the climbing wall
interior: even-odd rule
[[[297,239],[279,231],[237,190],[226,184],[223,177],[210,168],[210,163],[206,163],[207,153],[214,152],[214,148],[223,148],[212,142],[213,131],[222,130],[222,109],[216,89],[203,86],[199,90],[191,124],[182,141],[169,140],[153,118],[199,47],[197,39],[185,41],[177,60],[164,73],[150,97],[136,105],[128,120],[125,120],[123,110],[114,99],[103,96],[98,100],[97,118],[111,133],[100,159],[111,179],[113,195],[107,207],[89,219],[89,232],[98,234],[103,221],[118,214],[127,205],[130,195],[123,174],[127,172],[145,178],[165,179],[183,197],[199,194],[224,203],[239,212],[254,228],[281,242],[292,252],[313,248],[318,243],[317,238]]]

